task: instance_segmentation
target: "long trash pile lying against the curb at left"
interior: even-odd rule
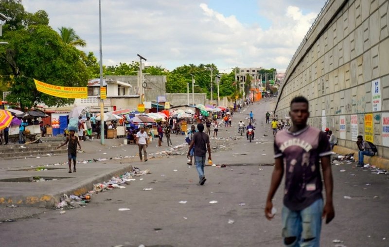
[[[63,194],[60,198],[60,202],[55,205],[55,209],[74,209],[79,207],[85,207],[88,202],[90,202],[91,196],[99,192],[110,191],[113,189],[124,189],[124,184],[130,184],[131,181],[136,179],[133,177],[143,176],[150,173],[149,169],[141,170],[137,167],[133,167],[131,172],[126,172],[121,176],[113,176],[109,181],[98,183],[93,185],[93,190],[89,191],[86,194],[77,196],[74,194],[67,195]],[[62,212],[62,211],[61,211]]]

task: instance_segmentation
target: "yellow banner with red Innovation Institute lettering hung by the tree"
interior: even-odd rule
[[[36,90],[59,98],[85,99],[88,98],[88,88],[75,88],[51,85],[35,80]]]

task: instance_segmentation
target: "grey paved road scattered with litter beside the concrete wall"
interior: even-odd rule
[[[224,144],[232,150],[218,151],[212,158],[214,163],[227,167],[207,166],[204,186],[196,185],[195,168],[186,165],[183,156],[131,162],[150,169],[152,174],[142,176],[143,180],[137,179],[125,189],[93,196],[85,208],[62,215],[47,210],[32,218],[2,223],[1,245],[282,246],[282,188],[274,199],[278,209],[274,220],[267,221],[263,213],[273,162],[273,138],[264,116],[272,104],[263,101],[250,106],[257,119],[256,140],[249,143],[246,139],[226,139]],[[234,114],[234,126],[220,128],[219,137],[236,136],[236,122],[248,116],[248,112]],[[180,142],[178,137],[176,141]],[[333,166],[333,173],[336,218],[323,225],[321,246],[335,246],[335,239],[348,247],[389,246],[388,176],[356,169],[352,164]],[[345,195],[351,199],[345,199]],[[217,203],[210,204],[213,200]],[[119,208],[130,211],[118,211]],[[3,210],[11,213],[15,209]],[[229,224],[230,220],[233,224]]]

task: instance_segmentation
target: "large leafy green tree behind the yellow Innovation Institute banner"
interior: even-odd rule
[[[77,49],[65,45],[49,26],[31,26],[6,32],[9,42],[0,50],[0,71],[14,75],[7,101],[31,108],[70,104],[74,99],[57,98],[36,90],[33,78],[53,85],[85,87],[88,71]]]

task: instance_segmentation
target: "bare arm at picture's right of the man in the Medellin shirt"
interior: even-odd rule
[[[326,218],[325,223],[328,224],[335,217],[335,210],[332,202],[334,181],[331,172],[330,156],[321,157],[321,169],[323,171],[325,197],[326,197],[322,217]]]

